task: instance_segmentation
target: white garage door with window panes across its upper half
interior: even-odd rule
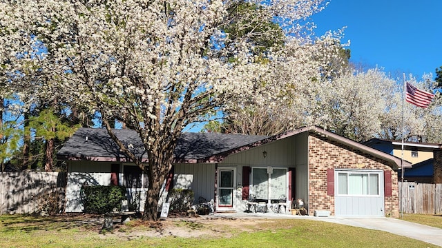
[[[383,171],[335,169],[334,173],[336,216],[385,216]]]

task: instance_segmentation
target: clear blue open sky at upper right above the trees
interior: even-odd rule
[[[384,68],[392,76],[421,79],[442,66],[441,0],[329,0],[311,17],[316,34],[344,26],[351,61]]]

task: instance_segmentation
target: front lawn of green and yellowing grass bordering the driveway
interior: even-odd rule
[[[407,215],[403,219],[441,225],[441,218]],[[100,223],[84,222],[87,219],[0,216],[0,247],[403,247],[405,244],[406,247],[436,247],[384,231],[315,220],[266,220],[260,225],[247,226],[241,220],[233,220],[234,227],[232,221],[216,227],[220,231],[217,237],[153,238],[131,234],[158,228],[155,225],[135,221],[100,234]],[[173,225],[191,231],[214,228],[198,221],[176,220]]]

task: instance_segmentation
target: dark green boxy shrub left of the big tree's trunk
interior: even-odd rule
[[[88,214],[105,214],[114,208],[121,210],[122,200],[126,200],[126,187],[123,186],[83,186],[81,202]]]

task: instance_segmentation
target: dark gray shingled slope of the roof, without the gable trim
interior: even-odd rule
[[[147,157],[140,136],[135,130],[113,131],[137,156]],[[265,138],[267,136],[186,132],[177,141],[175,161],[209,158]],[[59,150],[57,157],[72,160],[126,161],[125,155],[119,151],[104,128],[79,128]]]

